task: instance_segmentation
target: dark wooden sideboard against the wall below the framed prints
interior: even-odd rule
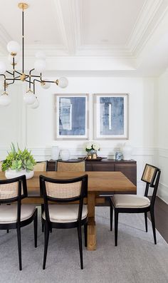
[[[69,160],[76,161],[79,160]],[[68,162],[68,161],[67,161]],[[120,171],[122,172],[134,185],[137,185],[137,162],[135,160],[85,160],[86,171]],[[48,171],[56,171],[56,160],[48,161]]]

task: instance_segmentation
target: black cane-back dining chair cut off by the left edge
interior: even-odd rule
[[[16,229],[20,270],[22,269],[21,227],[31,222],[34,227],[34,245],[37,247],[37,209],[35,205],[21,203],[21,200],[27,196],[25,175],[9,180],[0,180],[0,230]]]

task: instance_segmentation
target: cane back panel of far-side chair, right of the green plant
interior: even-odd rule
[[[83,162],[60,162],[57,163],[57,171],[85,171],[85,161]]]

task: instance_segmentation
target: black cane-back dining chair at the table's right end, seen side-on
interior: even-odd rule
[[[159,185],[161,171],[159,168],[146,164],[141,180],[146,183],[145,195],[113,195],[110,197],[110,230],[112,231],[112,215],[115,212],[115,246],[117,246],[118,215],[119,213],[144,213],[145,229],[147,232],[147,212],[150,212],[154,244],[157,244],[155,221],[154,221],[154,202]],[[149,187],[153,188],[151,200],[148,197]]]

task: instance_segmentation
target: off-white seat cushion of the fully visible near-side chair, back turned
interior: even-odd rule
[[[75,222],[78,220],[78,207],[79,205],[48,205],[49,215],[51,222]],[[82,219],[87,217],[88,207],[83,205]],[[45,212],[42,215],[46,220]]]

